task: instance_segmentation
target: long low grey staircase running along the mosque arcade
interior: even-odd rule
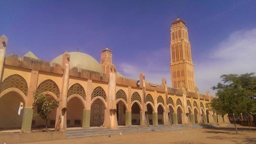
[[[128,134],[134,132],[154,132],[154,131],[171,131],[171,130],[186,130],[192,128],[209,128],[217,127],[215,124],[192,124],[191,126],[185,124],[178,124],[173,126],[157,125],[150,126],[120,126],[118,130],[110,130],[109,128],[80,128],[67,130],[67,138],[82,138],[88,136],[103,136],[112,134]]]

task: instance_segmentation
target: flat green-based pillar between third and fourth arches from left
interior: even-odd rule
[[[91,93],[92,93],[93,80],[87,80],[87,92],[86,92],[86,105],[85,110],[83,110],[83,122],[82,128],[90,128],[90,118],[91,118]]]

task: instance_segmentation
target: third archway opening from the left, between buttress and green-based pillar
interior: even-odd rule
[[[83,102],[81,102],[81,99],[77,96],[68,100],[66,118],[67,127],[82,126],[84,109]]]

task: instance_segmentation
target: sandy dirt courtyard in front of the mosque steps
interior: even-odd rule
[[[95,136],[28,144],[256,144],[255,128],[249,132],[248,127],[240,126],[238,130],[238,135],[235,134],[233,126],[228,126],[111,135],[111,137]]]

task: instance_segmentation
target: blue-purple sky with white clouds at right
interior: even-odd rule
[[[200,92],[221,74],[256,72],[256,0],[0,0],[0,6],[7,54],[32,51],[51,61],[79,46],[99,61],[107,45],[124,76],[144,72],[147,81],[166,78],[171,86],[170,27],[179,14]]]

